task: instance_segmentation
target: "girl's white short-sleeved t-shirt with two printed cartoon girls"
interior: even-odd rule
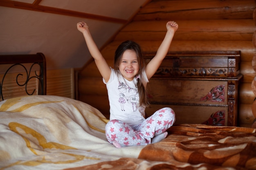
[[[148,78],[143,72],[146,82]],[[110,79],[106,83],[110,104],[110,120],[118,119],[131,126],[140,124],[145,120],[145,108],[139,106],[139,93],[137,79],[132,81],[125,79],[121,73],[111,68]]]

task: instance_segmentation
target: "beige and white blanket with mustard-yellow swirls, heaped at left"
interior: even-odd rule
[[[57,96],[0,102],[0,170],[60,170],[121,157],[143,146],[117,149],[105,137],[108,120],[92,106]]]

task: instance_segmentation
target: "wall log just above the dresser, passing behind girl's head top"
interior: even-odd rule
[[[121,44],[123,40],[111,42],[106,46],[101,53],[108,60],[114,60],[115,50],[117,46]],[[152,40],[136,41],[142,48],[144,52],[155,53],[160,46],[161,41]],[[175,40],[172,42],[169,51],[241,51],[241,61],[242,62],[252,62],[254,54],[256,54],[256,48],[252,43],[252,40],[249,41],[230,41],[230,40],[187,40],[180,41]]]

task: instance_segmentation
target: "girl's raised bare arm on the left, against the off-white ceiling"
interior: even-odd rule
[[[77,29],[83,33],[83,36],[85,38],[85,42],[88,46],[88,49],[90,51],[90,54],[94,58],[95,64],[97,68],[99,69],[99,72],[101,73],[101,76],[105,79],[106,82],[108,82],[111,74],[110,67],[108,66],[108,63],[102,56],[101,52],[99,51],[97,45],[95,44],[92,35],[89,31],[89,27],[85,22],[79,22],[76,24]]]

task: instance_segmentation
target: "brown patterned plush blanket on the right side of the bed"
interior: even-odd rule
[[[141,150],[139,159],[121,158],[69,170],[256,169],[256,129],[182,124],[168,137]]]

